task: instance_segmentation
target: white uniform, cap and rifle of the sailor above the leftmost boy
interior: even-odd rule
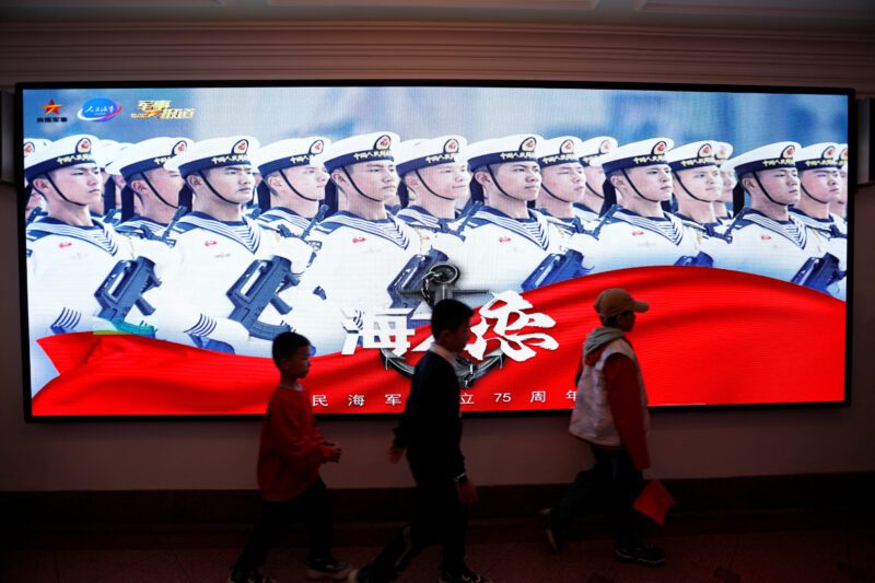
[[[171,159],[166,167],[178,168],[185,177],[212,167],[249,165],[253,147],[257,148],[256,140],[241,136],[205,140]],[[313,248],[245,215],[223,222],[202,212],[180,219],[172,238],[174,260],[162,273],[162,284],[145,296],[155,313],[144,319],[156,328],[156,337],[236,354],[269,355],[279,329],[261,331],[259,327],[294,327],[294,316],[276,306],[278,290],[294,284],[313,259]],[[271,277],[276,278],[272,284],[260,290]]]

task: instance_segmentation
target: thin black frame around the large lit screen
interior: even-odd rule
[[[522,81],[522,80],[436,80],[436,79],[330,79],[330,80],[198,80],[180,81],[88,81],[88,82],[22,82],[15,84],[13,137],[16,148],[13,152],[14,189],[16,196],[18,266],[19,266],[19,307],[21,324],[21,364],[24,421],[27,423],[52,422],[117,422],[117,421],[253,421],[262,415],[108,415],[108,416],[34,416],[31,397],[30,366],[30,316],[27,305],[25,225],[26,196],[24,193],[24,158],[20,155],[20,144],[24,140],[24,92],[27,90],[70,90],[70,89],[199,89],[199,88],[330,88],[330,86],[423,86],[423,88],[490,88],[490,89],[564,89],[564,90],[638,90],[663,92],[705,92],[705,93],[777,93],[841,95],[848,100],[848,143],[854,151],[858,145],[856,92],[851,88],[786,86],[786,85],[737,85],[737,84],[696,84],[696,83],[637,83],[637,82],[590,82],[590,81]],[[848,408],[852,405],[853,392],[853,282],[854,282],[854,199],[856,195],[856,158],[848,160],[848,289],[845,299],[845,359],[844,398],[840,401],[816,403],[763,403],[732,405],[663,405],[651,407],[652,413],[660,412],[710,412],[749,410],[800,410]],[[569,373],[571,374],[571,373]],[[515,418],[515,417],[559,417],[567,416],[571,408],[541,409],[528,411],[466,411],[472,418]],[[322,420],[366,421],[398,419],[400,413],[316,413]]]

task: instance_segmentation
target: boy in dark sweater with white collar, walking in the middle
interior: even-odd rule
[[[401,422],[389,447],[393,464],[407,452],[417,482],[413,520],[398,530],[380,556],[352,583],[384,583],[398,574],[434,539],[443,544],[440,583],[489,583],[465,563],[468,505],[477,489],[465,474],[456,354],[470,336],[470,307],[457,300],[434,304],[431,330],[434,343],[417,363]]]

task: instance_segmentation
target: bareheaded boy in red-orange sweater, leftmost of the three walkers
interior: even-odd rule
[[[346,579],[348,564],[331,556],[331,509],[319,466],[340,460],[340,447],[328,443],[313,419],[310,390],[299,382],[310,371],[310,341],[295,333],[273,339],[273,362],[280,383],[270,396],[261,424],[258,488],[261,518],[237,561],[229,583],[272,583],[260,573],[267,553],[289,523],[303,521],[310,532],[307,578]]]

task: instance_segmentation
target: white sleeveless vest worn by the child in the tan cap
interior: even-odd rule
[[[605,362],[607,362],[608,357],[618,353],[629,357],[635,364],[638,383],[641,386],[641,416],[644,420],[644,432],[650,431],[648,395],[644,392],[641,368],[638,365],[638,359],[632,347],[622,338],[608,342],[594,365],[584,364],[583,372],[578,381],[574,411],[571,413],[571,425],[569,427],[572,435],[597,445],[610,447],[622,445],[622,440],[610,412],[607,387],[605,386]]]

